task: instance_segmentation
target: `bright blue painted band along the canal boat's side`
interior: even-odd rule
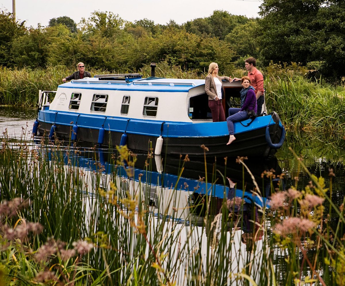
[[[206,122],[206,123],[185,123],[185,122],[163,122],[154,120],[137,120],[126,118],[111,118],[96,114],[76,114],[70,112],[54,112],[51,110],[41,110],[38,114],[40,122],[72,126],[76,122],[79,127],[97,129],[104,125],[104,128],[114,132],[127,132],[128,134],[153,135],[158,137],[221,137],[228,136],[226,122]],[[275,125],[270,115],[256,118],[249,126],[243,126],[240,122],[235,122],[235,134],[247,133],[249,131],[262,129],[267,125]],[[246,125],[250,120],[242,123]],[[162,123],[163,126],[162,126]],[[280,123],[280,122],[279,122]],[[161,132],[161,127],[163,128]]]

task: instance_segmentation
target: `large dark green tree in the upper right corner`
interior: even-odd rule
[[[345,75],[343,0],[264,0],[260,15],[265,64],[322,61],[325,75]]]

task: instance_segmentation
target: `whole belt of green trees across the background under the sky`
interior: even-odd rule
[[[88,68],[137,72],[150,62],[164,62],[201,73],[216,61],[221,72],[253,56],[258,62],[319,62],[318,72],[340,79],[345,71],[344,0],[263,0],[261,19],[215,10],[209,17],[179,25],[129,22],[112,12],[95,11],[78,24],[53,18],[48,27],[30,27],[0,13],[0,65]]]

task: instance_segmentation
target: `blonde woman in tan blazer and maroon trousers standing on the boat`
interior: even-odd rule
[[[218,64],[210,63],[205,79],[205,92],[208,95],[208,106],[211,109],[213,122],[225,121],[225,113],[221,103],[222,80],[226,79],[229,82],[233,81],[233,79],[228,76],[219,76],[218,71]]]

